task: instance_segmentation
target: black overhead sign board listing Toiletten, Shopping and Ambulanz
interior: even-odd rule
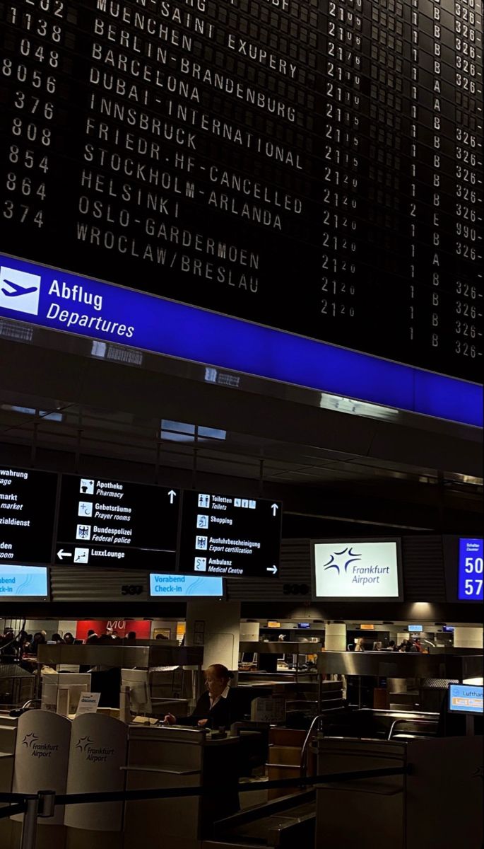
[[[184,492],[179,571],[277,577],[282,505],[262,498]]]

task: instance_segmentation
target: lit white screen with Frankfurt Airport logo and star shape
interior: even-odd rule
[[[398,540],[313,543],[317,599],[401,599]]]

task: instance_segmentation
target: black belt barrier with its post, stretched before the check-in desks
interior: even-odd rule
[[[238,793],[251,791],[275,790],[281,788],[303,787],[319,784],[331,784],[337,781],[358,781],[376,779],[390,775],[407,775],[406,767],[385,767],[381,769],[359,769],[346,773],[325,773],[324,775],[300,776],[293,779],[274,779],[272,781],[254,782],[253,784],[237,784]],[[36,794],[0,793],[0,803],[7,802],[8,807],[0,808],[0,819],[13,817],[14,814],[24,813],[19,849],[35,849],[37,817],[53,816],[56,805],[83,805],[88,802],[113,801],[149,801],[155,799],[171,799],[186,796],[213,796],[214,792],[226,793],[226,784],[210,785],[209,787],[175,787],[156,788],[153,790],[107,790],[97,793],[58,794],[53,790],[39,790]]]

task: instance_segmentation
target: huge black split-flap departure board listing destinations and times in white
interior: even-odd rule
[[[0,33],[0,250],[480,379],[481,0],[6,0]]]

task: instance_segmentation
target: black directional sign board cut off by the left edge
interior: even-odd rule
[[[50,563],[58,475],[0,467],[0,564]]]

